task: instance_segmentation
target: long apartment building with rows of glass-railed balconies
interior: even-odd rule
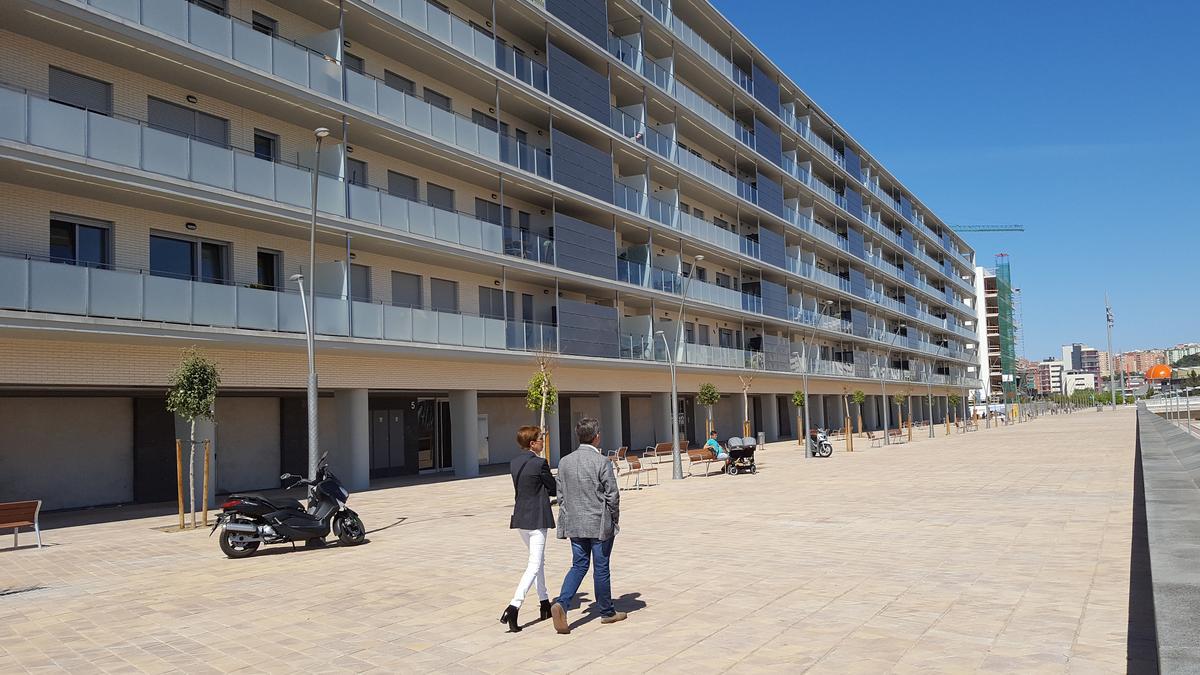
[[[0,196],[0,501],[173,498],[192,345],[212,490],[302,472],[296,274],[352,489],[506,462],[538,354],[556,460],[979,387],[973,251],[703,0],[8,0]]]

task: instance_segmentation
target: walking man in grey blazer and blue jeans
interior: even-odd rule
[[[612,544],[620,530],[620,492],[612,462],[600,452],[600,423],[584,417],[575,425],[580,447],[558,462],[558,538],[571,540],[571,568],[563,579],[563,591],[551,605],[554,629],[562,634],[571,632],[566,622],[575,592],[588,573],[588,562],[595,566],[592,581],[595,585],[596,605],[601,623],[625,620],[624,611],[612,605],[612,587],[608,578],[608,558]]]

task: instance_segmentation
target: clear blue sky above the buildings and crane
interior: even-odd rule
[[[946,222],[1010,256],[1025,356],[1200,341],[1200,2],[714,0]],[[1019,351],[1020,353],[1020,351]]]

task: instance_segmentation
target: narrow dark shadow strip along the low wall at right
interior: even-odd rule
[[[1134,434],[1133,540],[1129,546],[1129,623],[1126,631],[1126,670],[1158,673],[1158,629],[1154,627],[1154,587],[1146,533],[1146,480],[1141,471],[1141,422]]]

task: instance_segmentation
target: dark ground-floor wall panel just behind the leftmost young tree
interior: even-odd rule
[[[186,461],[187,440],[182,452]],[[133,399],[133,501],[169,502],[178,494],[175,416],[166,399]]]

